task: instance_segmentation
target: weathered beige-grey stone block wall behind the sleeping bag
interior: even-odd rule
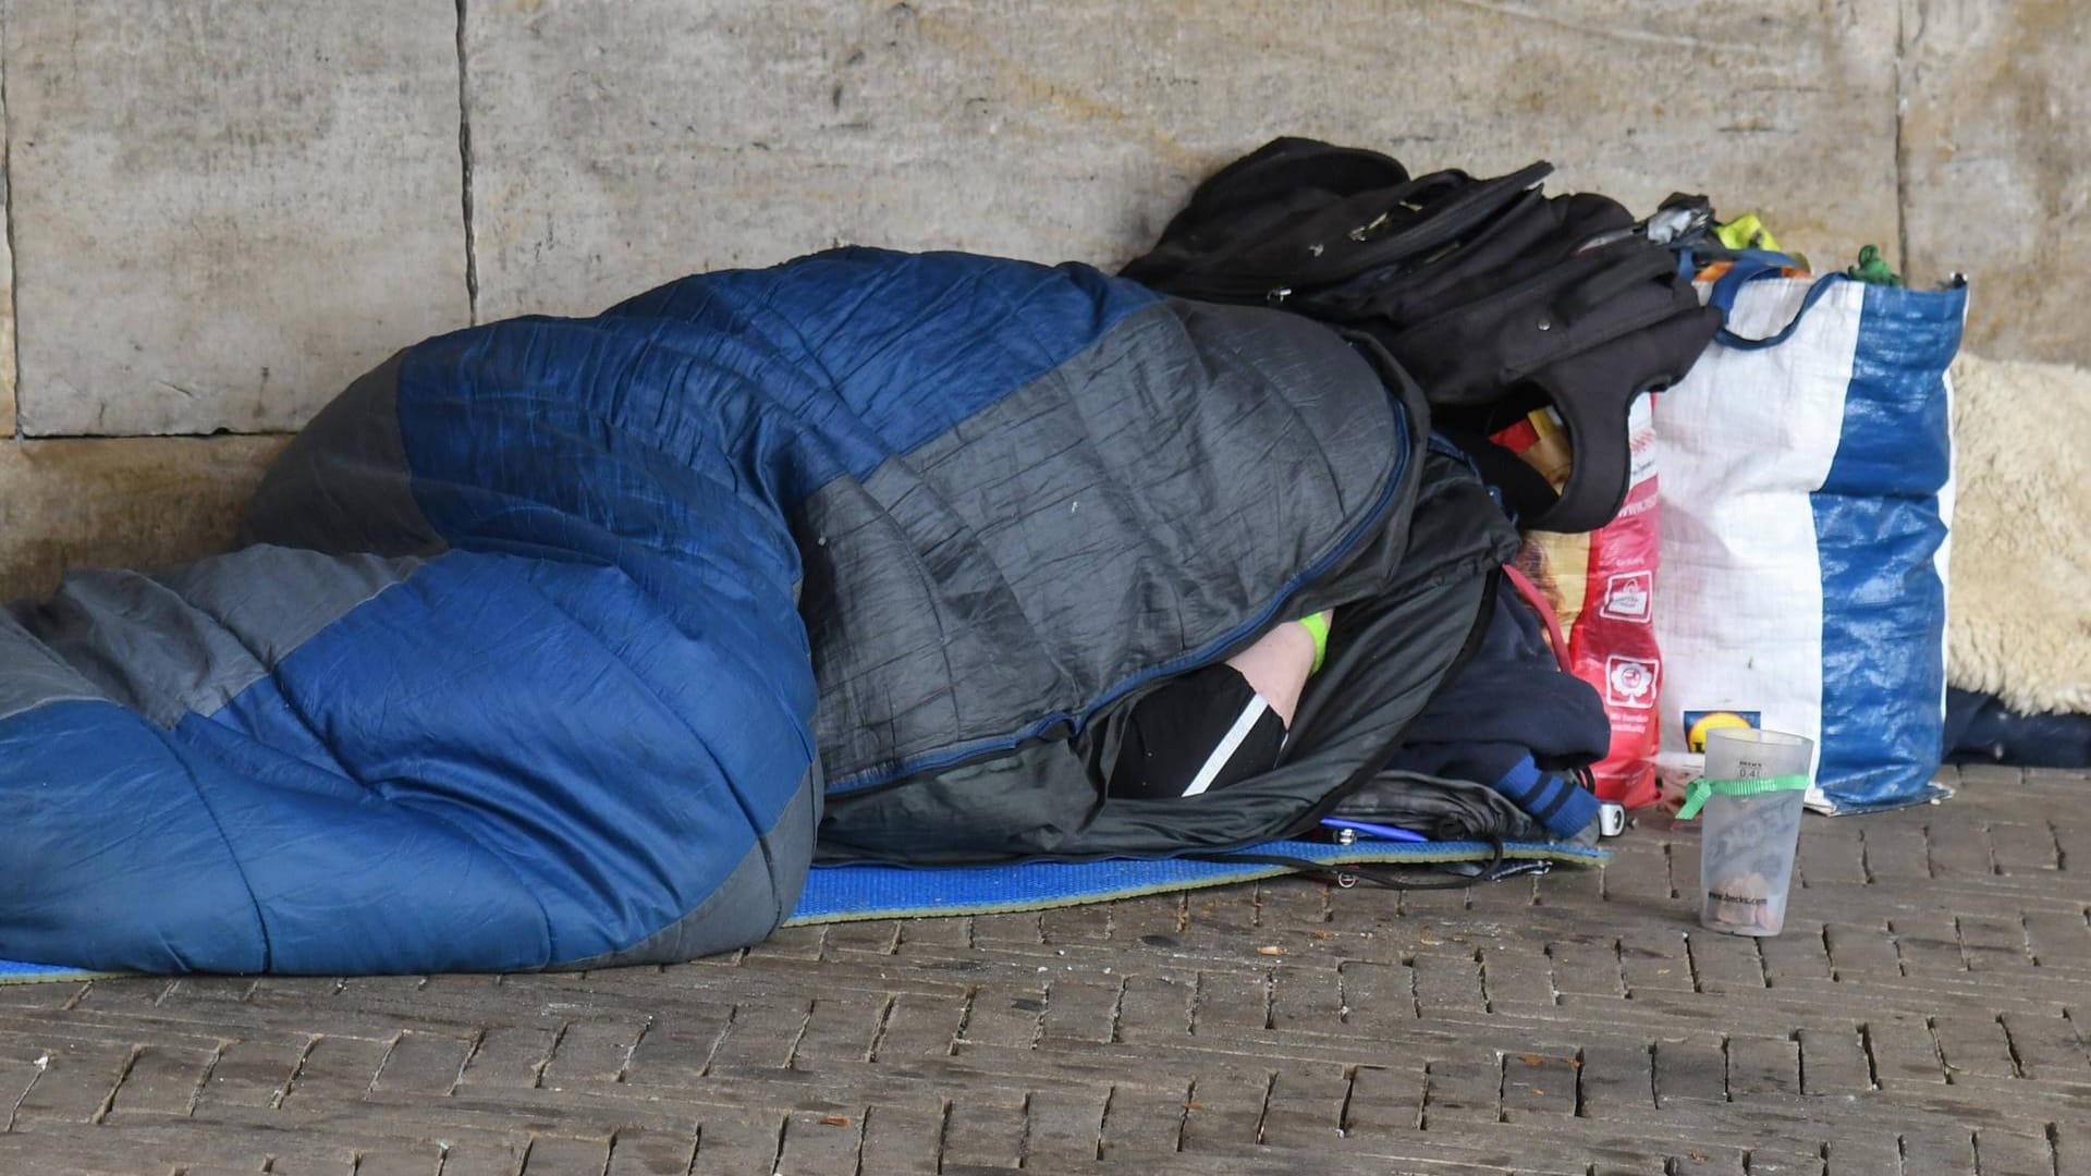
[[[2091,360],[2081,0],[8,0],[0,596],[226,544],[427,335],[834,243],[1117,264],[1276,134],[1702,190]]]

